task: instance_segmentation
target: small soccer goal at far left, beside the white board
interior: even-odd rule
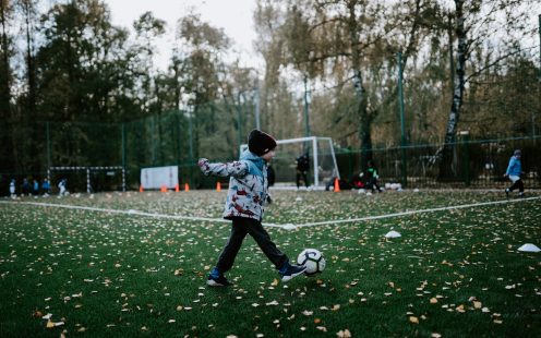
[[[49,167],[47,179],[56,188],[62,179],[68,179],[68,191],[122,190],[125,192],[125,170],[121,166],[112,167]]]

